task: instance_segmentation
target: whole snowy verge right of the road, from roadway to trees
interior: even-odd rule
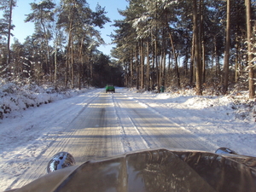
[[[256,156],[256,102],[247,96],[195,96],[190,91],[153,94],[127,92],[148,108],[216,147]]]

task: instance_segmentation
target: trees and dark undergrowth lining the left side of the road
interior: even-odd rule
[[[102,87],[113,81],[122,85],[122,67],[97,49],[105,44],[99,30],[110,21],[99,4],[93,11],[86,0],[30,3],[32,11],[27,13],[25,22],[34,23],[34,32],[23,44],[18,39],[10,44],[16,3],[16,0],[0,0],[2,79],[72,89]]]

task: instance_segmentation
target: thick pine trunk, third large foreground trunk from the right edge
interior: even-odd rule
[[[193,0],[193,32],[195,35],[195,64],[196,64],[196,95],[201,96],[201,58],[200,58],[200,43],[199,43],[199,33],[198,33],[198,16],[197,16],[197,3]]]

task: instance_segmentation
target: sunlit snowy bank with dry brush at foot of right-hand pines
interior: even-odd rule
[[[234,119],[256,122],[256,99],[249,99],[247,91],[232,92],[226,96],[212,95],[212,90],[204,90],[204,96],[196,96],[194,89],[172,90],[166,89],[165,93],[155,93],[151,91],[137,90],[136,88],[127,89],[133,94],[145,97],[150,96],[154,101],[169,100],[171,103],[180,103],[187,109],[209,109],[225,111],[226,114]],[[229,116],[229,118],[230,118]]]

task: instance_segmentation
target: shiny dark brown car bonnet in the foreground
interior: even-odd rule
[[[38,178],[23,191],[255,191],[256,158],[147,149],[90,160]]]

